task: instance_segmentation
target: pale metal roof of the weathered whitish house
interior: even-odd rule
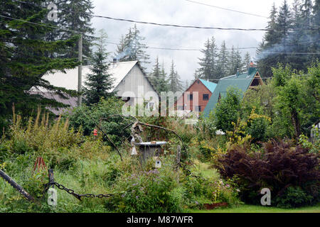
[[[112,74],[114,78],[114,88],[127,76],[127,74],[132,70],[134,65],[137,64],[137,61],[131,62],[113,62],[110,64],[108,72]],[[72,70],[65,70],[66,73],[58,71],[55,73],[45,74],[42,78],[48,80],[50,84],[55,87],[64,87],[65,89],[78,90],[78,67]],[[92,73],[90,71],[90,65],[82,66],[82,86],[85,86],[85,81],[87,79],[87,74]],[[32,89],[46,92],[43,88]]]

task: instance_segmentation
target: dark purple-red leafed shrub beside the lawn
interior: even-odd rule
[[[276,140],[264,143],[263,148],[262,152],[252,153],[247,148],[235,147],[220,157],[220,165],[215,165],[223,177],[239,177],[243,201],[260,204],[262,188],[271,190],[272,205],[302,206],[319,201],[319,153]],[[302,194],[292,193],[292,189]]]

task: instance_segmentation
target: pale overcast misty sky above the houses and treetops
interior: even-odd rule
[[[203,4],[244,11],[261,16],[269,16],[273,2],[279,7],[283,1],[274,0],[193,0]],[[288,1],[292,4],[292,1]],[[265,28],[267,18],[245,15],[210,6],[194,4],[186,0],[93,0],[94,13],[114,18],[126,18],[136,21],[154,23],[174,23],[183,26],[210,26],[221,28]],[[121,35],[127,33],[134,23],[112,21],[105,18],[92,18],[92,26],[96,31],[105,29],[110,42],[119,43]],[[137,28],[146,39],[145,44],[156,48],[203,48],[206,40],[215,37],[218,46],[225,40],[228,48],[232,45],[239,48],[257,47],[265,32],[263,31],[220,31],[194,28],[174,28],[137,23]],[[114,52],[116,46],[108,45],[107,50]],[[255,57],[255,49],[249,51]],[[189,81],[198,68],[200,51],[154,50],[148,49],[151,64],[145,65],[151,71],[156,56],[164,61],[166,72],[169,72],[171,60],[181,79]]]

